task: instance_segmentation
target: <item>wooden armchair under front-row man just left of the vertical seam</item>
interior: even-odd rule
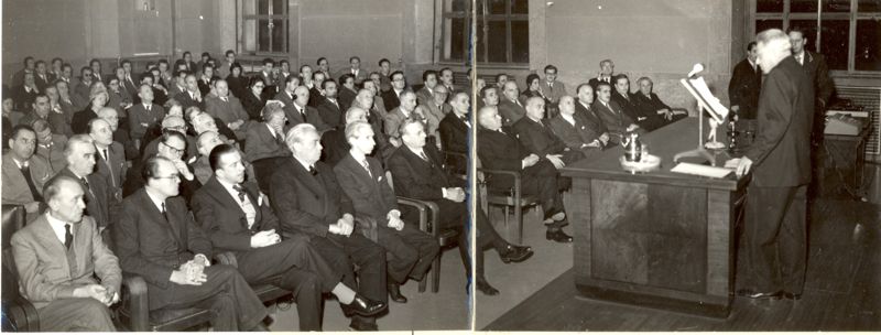
[[[389,181],[389,185],[394,190],[394,182],[392,181],[392,173],[391,171],[385,172],[385,177]],[[437,207],[437,204],[434,202],[421,201],[404,196],[398,197],[398,204],[410,206],[418,210],[420,213],[420,230],[426,231],[434,236],[437,239],[437,244],[440,245],[440,250],[446,247],[452,246],[457,241],[459,233],[454,229],[440,229],[440,225],[437,224],[440,220],[440,209]],[[432,263],[431,277],[432,277],[432,292],[437,293],[440,290],[440,255],[443,252],[438,252],[437,257],[434,259]],[[420,292],[425,292],[425,288],[427,287],[428,275],[426,275],[422,281],[420,281]]]

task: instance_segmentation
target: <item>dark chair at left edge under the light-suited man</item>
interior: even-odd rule
[[[3,205],[3,332],[40,332],[40,317],[36,307],[19,291],[19,273],[12,258],[10,240],[12,234],[24,227],[24,206]]]

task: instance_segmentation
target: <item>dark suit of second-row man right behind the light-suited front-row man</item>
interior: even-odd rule
[[[112,191],[107,187],[107,181],[102,175],[91,173],[85,176],[88,182],[87,187],[86,184],[83,183],[83,180],[74,174],[69,168],[64,168],[58,174],[69,176],[79,182],[79,186],[83,187],[83,192],[85,193],[83,198],[86,203],[86,210],[83,214],[95,219],[98,227],[108,228],[119,220],[119,201],[113,196]],[[112,229],[116,228],[111,228],[111,230]]]

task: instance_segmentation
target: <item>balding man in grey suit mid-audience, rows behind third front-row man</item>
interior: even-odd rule
[[[250,117],[239,98],[229,94],[229,85],[225,79],[214,82],[214,94],[205,98],[205,112],[220,119],[224,125],[236,133],[236,138],[246,140]]]

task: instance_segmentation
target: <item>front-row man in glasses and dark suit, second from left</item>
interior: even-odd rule
[[[267,307],[239,271],[211,263],[211,241],[177,197],[180,163],[144,163],[145,183],[123,201],[112,234],[122,270],[146,281],[148,309],[200,307],[213,312],[214,331],[268,331]]]

